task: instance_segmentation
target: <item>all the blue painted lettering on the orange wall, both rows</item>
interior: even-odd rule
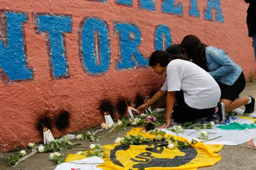
[[[98,2],[106,2],[100,0]],[[132,7],[132,0],[116,0],[116,4]],[[155,11],[155,2],[139,0],[142,10]],[[208,0],[204,19],[214,20],[212,9],[216,10],[216,21],[224,22],[220,0]],[[161,11],[167,14],[183,15],[182,3],[175,0],[161,2]],[[190,16],[199,17],[197,0],[190,0]],[[28,13],[0,10],[0,75],[5,84],[34,80],[34,69],[28,65],[24,24],[28,24]],[[46,38],[50,76],[65,79],[70,76],[65,34],[74,34],[72,15],[54,13],[32,13],[34,31]],[[97,16],[82,19],[78,28],[79,58],[87,75],[102,75],[109,70],[111,45],[109,23]],[[113,34],[118,39],[116,71],[148,66],[138,47],[142,43],[140,28],[128,21],[113,21]],[[172,44],[170,28],[165,24],[155,26],[154,49],[164,50]],[[132,58],[133,57],[133,58]]]

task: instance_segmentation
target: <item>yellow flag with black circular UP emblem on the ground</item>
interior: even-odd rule
[[[154,134],[142,132],[142,128],[133,128],[127,133],[137,136],[140,134],[146,138],[154,138]],[[166,135],[166,137],[172,135]],[[121,137],[121,136],[120,136]],[[176,140],[187,142],[185,138],[174,136]],[[175,148],[170,150],[167,148],[168,141],[162,141],[165,144],[143,142],[141,145],[129,144],[110,144],[103,146],[106,148],[106,154],[110,158],[102,158],[106,163],[97,166],[103,170],[137,170],[137,168],[145,168],[145,170],[196,170],[198,167],[212,166],[221,159],[216,154],[223,145],[210,146],[204,143],[197,143],[185,149]],[[86,158],[82,155],[70,154],[66,161],[81,160]],[[115,163],[113,163],[113,162]],[[116,165],[117,164],[117,165]],[[66,169],[63,169],[66,170]]]

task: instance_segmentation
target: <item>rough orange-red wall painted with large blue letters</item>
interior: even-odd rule
[[[242,0],[2,0],[0,9],[0,151],[42,141],[42,120],[54,136],[100,125],[102,99],[118,117],[120,98],[134,105],[164,81],[150,54],[188,34],[223,48],[247,77],[256,69]]]

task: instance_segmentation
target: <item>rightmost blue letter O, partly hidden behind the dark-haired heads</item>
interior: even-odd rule
[[[166,47],[163,49],[163,36],[162,34],[165,35],[165,44]],[[165,50],[167,47],[172,45],[172,36],[170,29],[168,26],[165,25],[160,25],[156,28],[156,34],[155,34],[155,49],[156,50]]]

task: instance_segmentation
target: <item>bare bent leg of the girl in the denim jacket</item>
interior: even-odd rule
[[[250,97],[244,97],[234,100],[233,102],[227,99],[220,99],[224,103],[226,112],[233,111],[240,106],[246,105],[250,101]]]

